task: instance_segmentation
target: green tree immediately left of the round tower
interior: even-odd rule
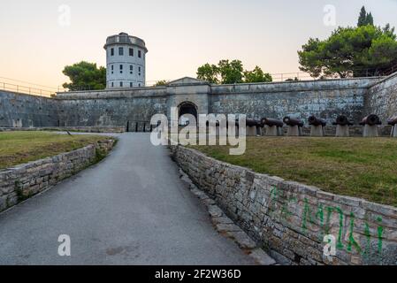
[[[95,63],[81,61],[66,65],[62,73],[72,81],[63,84],[63,87],[69,90],[106,88],[106,68],[103,66],[98,68]]]

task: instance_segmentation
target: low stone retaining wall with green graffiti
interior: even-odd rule
[[[172,157],[280,264],[397,264],[397,208],[333,195],[172,147]],[[336,255],[324,256],[324,235]]]

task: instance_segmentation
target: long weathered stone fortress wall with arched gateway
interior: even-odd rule
[[[170,114],[172,106],[194,103],[198,113],[246,114],[247,118],[331,123],[345,114],[357,124],[365,114],[384,122],[397,113],[397,74],[388,78],[210,85],[183,78],[157,88],[122,88],[58,93],[51,98],[0,91],[0,127],[120,126]]]

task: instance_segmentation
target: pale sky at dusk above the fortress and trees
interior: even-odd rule
[[[62,4],[70,26],[59,24]],[[299,72],[297,50],[335,28],[324,25],[327,4],[337,26],[355,26],[365,5],[376,25],[397,27],[397,0],[2,0],[0,77],[57,87],[65,65],[105,65],[106,37],[122,31],[146,42],[147,80],[195,77],[199,65],[223,58]]]

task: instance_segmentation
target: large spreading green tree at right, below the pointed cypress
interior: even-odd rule
[[[324,41],[310,38],[298,55],[300,69],[314,78],[380,75],[397,65],[397,42],[389,25],[338,27]]]

